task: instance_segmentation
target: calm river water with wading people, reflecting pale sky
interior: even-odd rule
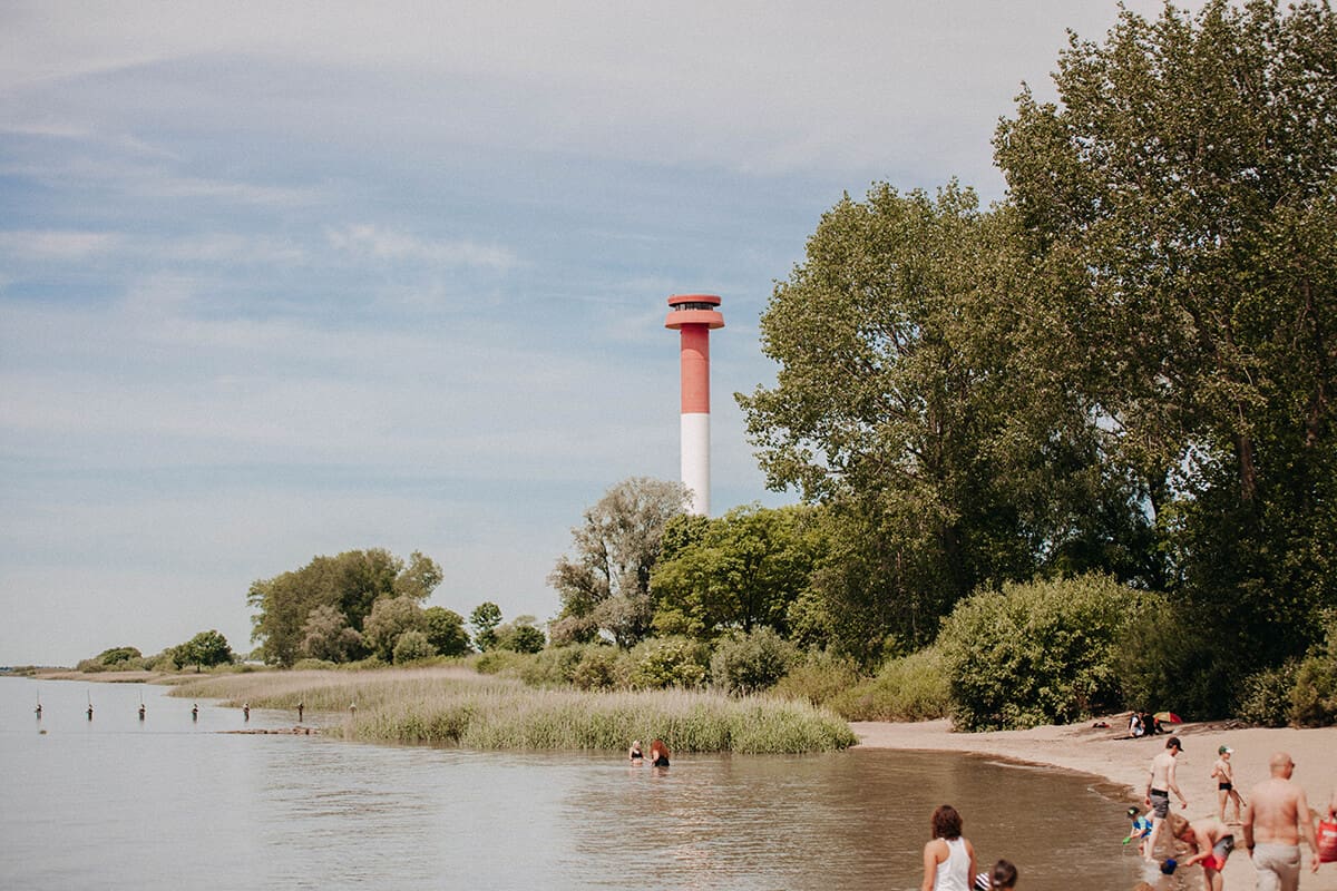
[[[1025,891],[1139,878],[1123,806],[1078,775],[860,749],[681,755],[656,772],[618,755],[233,735],[238,709],[202,701],[193,721],[164,693],[0,680],[0,887],[912,891],[943,801],[981,868],[1007,856]],[[249,727],[294,721],[253,709]]]

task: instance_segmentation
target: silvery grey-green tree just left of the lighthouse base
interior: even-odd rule
[[[588,641],[600,631],[623,648],[650,633],[650,573],[664,528],[683,514],[681,482],[632,477],[614,485],[571,530],[572,553],[558,558],[548,584],[562,598],[559,641]]]

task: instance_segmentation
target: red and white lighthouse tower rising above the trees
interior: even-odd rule
[[[710,516],[710,331],[725,327],[714,294],[668,298],[664,327],[681,335],[682,481],[691,489],[691,512]]]

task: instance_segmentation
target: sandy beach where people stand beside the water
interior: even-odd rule
[[[1126,716],[1103,720],[1110,724],[1108,728],[1080,724],[991,733],[955,733],[951,721],[947,720],[906,724],[856,721],[850,727],[858,735],[860,745],[868,748],[969,752],[1091,773],[1112,784],[1115,788],[1111,791],[1127,797],[1130,803],[1142,804],[1151,759],[1165,748],[1170,737],[1128,739]],[[1337,728],[1233,729],[1227,724],[1214,723],[1181,724],[1174,732],[1183,743],[1177,779],[1189,799],[1189,808],[1179,812],[1190,819],[1217,811],[1217,783],[1211,779],[1211,765],[1221,745],[1234,749],[1231,763],[1235,769],[1235,787],[1246,799],[1250,787],[1267,777],[1267,760],[1277,751],[1290,753],[1296,761],[1292,781],[1305,789],[1310,807],[1322,810],[1337,788]],[[1177,800],[1174,807],[1178,811]],[[1226,818],[1230,816],[1227,806]],[[1254,887],[1253,866],[1243,851],[1242,839],[1237,836],[1237,842],[1241,847],[1230,856],[1223,870],[1227,891]],[[1114,839],[1111,844],[1118,846],[1119,840]],[[1337,863],[1325,863],[1317,875],[1312,875],[1308,851],[1304,854],[1304,862],[1301,888],[1337,891]],[[1186,887],[1202,887],[1201,870],[1190,870],[1187,878]]]

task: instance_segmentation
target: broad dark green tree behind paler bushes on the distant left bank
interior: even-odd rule
[[[246,596],[255,609],[251,640],[259,641],[266,663],[291,665],[302,655],[313,610],[332,606],[361,633],[377,601],[406,597],[420,602],[440,581],[440,565],[420,552],[408,564],[381,548],[314,557],[301,569],[251,584]]]

